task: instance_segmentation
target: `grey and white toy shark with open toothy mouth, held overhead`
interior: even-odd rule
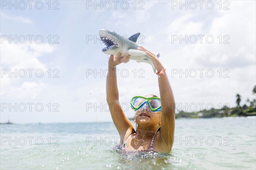
[[[104,54],[117,55],[119,51],[122,51],[121,57],[123,57],[125,53],[128,53],[131,55],[130,59],[137,62],[148,63],[152,66],[154,73],[156,72],[151,58],[148,57],[144,51],[137,50],[137,48],[140,46],[136,44],[136,41],[140,36],[140,33],[134,34],[127,39],[126,37],[116,34],[114,31],[100,29],[99,36],[102,42],[106,45],[106,47],[102,49]],[[160,54],[157,54],[157,57],[159,58]]]

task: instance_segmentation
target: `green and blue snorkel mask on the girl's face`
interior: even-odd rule
[[[152,112],[161,111],[161,99],[159,97],[134,96],[131,99],[131,108],[134,111],[150,109]]]

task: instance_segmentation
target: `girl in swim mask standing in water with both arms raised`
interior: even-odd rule
[[[166,72],[156,55],[142,46],[138,50],[144,51],[151,58],[157,70],[160,98],[149,94],[134,96],[131,99],[131,108],[135,112],[134,122],[136,130],[127,119],[119,104],[119,93],[116,82],[116,65],[127,63],[130,55],[121,58],[119,52],[116,59],[111,55],[108,61],[107,102],[111,117],[118,130],[123,150],[154,150],[160,153],[169,153],[172,150],[175,130],[175,100]]]

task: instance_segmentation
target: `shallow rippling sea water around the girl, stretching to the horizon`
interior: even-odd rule
[[[114,150],[113,122],[0,125],[0,169],[256,169],[256,118],[177,119],[171,153]]]

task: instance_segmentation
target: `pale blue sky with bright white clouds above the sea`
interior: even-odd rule
[[[108,55],[99,29],[160,53],[178,111],[256,98],[256,1],[0,1],[0,122],[109,122]],[[127,117],[133,96],[159,96],[151,65],[117,66]]]

